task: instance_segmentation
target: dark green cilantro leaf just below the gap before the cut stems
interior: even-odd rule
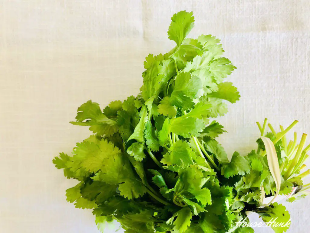
[[[222,166],[221,174],[225,178],[236,175],[243,176],[244,174],[250,172],[250,168],[249,161],[247,161],[247,159],[241,156],[238,152],[234,152],[231,161]]]

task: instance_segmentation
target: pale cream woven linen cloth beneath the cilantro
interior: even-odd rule
[[[189,36],[218,37],[237,66],[228,80],[241,99],[218,119],[229,155],[255,148],[265,117],[310,133],[308,0],[0,0],[0,232],[99,232],[91,210],[66,202],[77,182],[52,158],[90,135],[69,124],[82,103],[139,93],[144,58],[174,47],[167,30],[180,10],[194,12]],[[288,232],[309,232],[309,205],[286,203]]]

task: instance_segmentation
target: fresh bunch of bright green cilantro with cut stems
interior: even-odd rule
[[[91,100],[78,108],[71,123],[89,126],[93,135],[77,143],[71,156],[60,153],[53,160],[67,178],[79,181],[66,190],[67,200],[93,209],[102,231],[105,222],[117,220],[126,233],[254,232],[238,226],[249,221],[248,211],[265,222],[289,220],[283,205],[264,205],[263,198],[302,186],[299,178],[305,174],[296,174],[304,168],[306,151],[295,151],[296,140],[286,145],[283,136],[290,128],[266,135],[279,157],[281,187],[274,178],[279,172],[270,168],[270,145],[262,139],[257,151],[235,152],[228,159],[215,139],[226,131],[210,118],[239,100],[237,88],[224,81],[236,67],[222,57],[219,39],[186,38],[194,25],[192,12],[180,11],[171,20],[168,38],[176,46],[146,57],[136,97],[113,101],[103,111]],[[261,135],[265,127],[266,121]],[[294,153],[298,158],[292,161]]]

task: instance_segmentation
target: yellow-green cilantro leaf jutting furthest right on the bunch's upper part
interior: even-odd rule
[[[240,98],[239,91],[237,91],[237,88],[233,86],[231,82],[220,83],[218,85],[218,91],[212,92],[208,96],[225,99],[230,103],[236,103]]]

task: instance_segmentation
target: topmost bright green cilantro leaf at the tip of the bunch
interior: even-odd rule
[[[194,26],[193,12],[179,11],[171,17],[168,38],[180,46]]]

